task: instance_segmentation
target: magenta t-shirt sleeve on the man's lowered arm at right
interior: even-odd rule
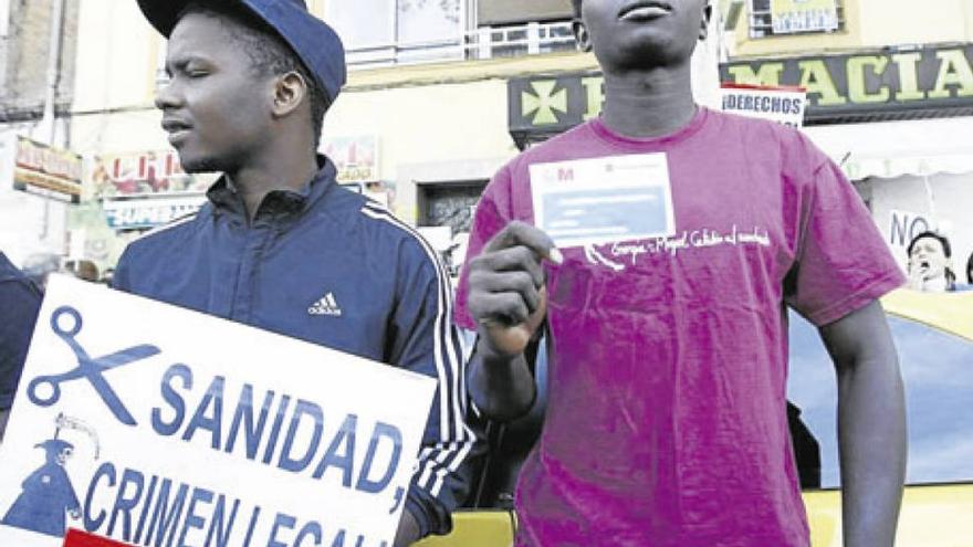
[[[787,305],[817,326],[855,312],[906,280],[838,166],[823,162],[805,192]]]

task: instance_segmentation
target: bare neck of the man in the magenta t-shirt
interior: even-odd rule
[[[603,123],[627,137],[659,137],[689,124],[697,106],[690,65],[613,73],[605,71]]]

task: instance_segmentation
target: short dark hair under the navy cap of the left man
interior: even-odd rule
[[[311,106],[311,123],[314,132],[314,148],[316,149],[321,140],[324,113],[328,107],[327,95],[291,46],[278,35],[276,31],[239,3],[221,0],[195,0],[179,12],[177,20],[190,13],[201,13],[237,23],[227,25],[227,30],[250,56],[253,69],[259,75],[280,76],[289,72],[301,74],[307,86],[307,102]]]

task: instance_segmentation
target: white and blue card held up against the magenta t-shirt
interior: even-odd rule
[[[531,166],[534,224],[558,248],[676,233],[666,154]]]

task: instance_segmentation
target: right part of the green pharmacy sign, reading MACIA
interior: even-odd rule
[[[720,77],[803,87],[808,124],[973,114],[973,43],[734,61]]]

